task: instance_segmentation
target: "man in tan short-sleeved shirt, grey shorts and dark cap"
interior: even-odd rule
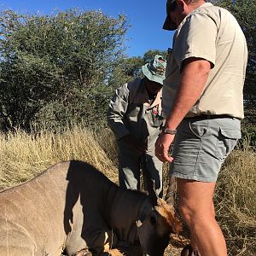
[[[220,166],[241,137],[247,44],[234,16],[212,3],[167,0],[166,9],[163,28],[177,31],[155,154],[172,162],[177,177],[178,207],[191,234],[181,255],[226,256],[212,196]]]

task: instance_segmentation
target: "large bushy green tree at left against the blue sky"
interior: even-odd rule
[[[0,125],[87,119],[101,111],[123,57],[126,18],[71,9],[54,15],[0,13]],[[104,91],[104,92],[103,92]]]

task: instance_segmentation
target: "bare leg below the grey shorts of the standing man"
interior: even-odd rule
[[[177,178],[178,208],[189,226],[191,245],[201,256],[227,256],[224,236],[215,219],[215,184]]]

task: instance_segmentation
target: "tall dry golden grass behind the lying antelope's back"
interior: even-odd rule
[[[37,135],[19,130],[0,134],[0,189],[22,183],[61,160],[87,161],[116,182],[116,168],[95,136],[81,125],[60,132],[45,129]]]

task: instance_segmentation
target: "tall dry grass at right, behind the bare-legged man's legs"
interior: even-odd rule
[[[256,255],[255,184],[256,154],[244,141],[225,161],[215,194],[216,215],[230,255]]]

